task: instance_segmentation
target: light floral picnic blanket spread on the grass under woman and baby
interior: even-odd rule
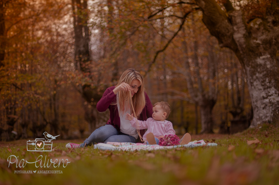
[[[134,151],[134,150],[159,150],[159,149],[173,149],[173,148],[194,148],[194,147],[201,147],[201,146],[217,146],[216,143],[205,143],[204,140],[200,141],[192,141],[188,144],[184,145],[175,145],[175,146],[167,146],[162,147],[157,144],[147,145],[142,143],[119,143],[119,142],[107,142],[105,143],[98,143],[94,145],[94,149],[101,149],[101,150],[123,150],[123,151]]]

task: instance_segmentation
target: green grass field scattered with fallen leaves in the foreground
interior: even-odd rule
[[[259,139],[260,143],[247,144]],[[0,142],[0,185],[2,184],[279,184],[279,130],[268,124],[234,135],[193,135],[193,140],[204,139],[217,147],[178,148],[172,150],[111,152],[93,149],[65,148],[68,142],[53,141],[52,152],[26,151],[26,140]],[[40,155],[42,165],[52,159],[68,159],[63,167],[38,167],[26,164],[9,165],[8,157],[35,162]],[[15,157],[11,157],[11,162]],[[23,161],[23,160],[22,160]],[[45,162],[46,161],[46,162]],[[22,162],[20,163],[22,166]],[[39,162],[37,163],[39,165]],[[15,173],[15,171],[32,171]],[[36,173],[34,171],[36,170]],[[44,174],[38,171],[60,170],[62,173]]]

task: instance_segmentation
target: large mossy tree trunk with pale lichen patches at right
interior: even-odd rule
[[[234,51],[247,75],[253,106],[251,127],[279,121],[279,48],[278,3],[269,9],[265,19],[245,22],[241,10],[232,7],[229,0],[220,8],[215,0],[196,0],[203,12],[203,22],[221,47]],[[276,12],[275,12],[276,11]]]

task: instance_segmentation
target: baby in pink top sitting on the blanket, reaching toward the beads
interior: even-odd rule
[[[172,123],[166,119],[170,113],[170,107],[167,102],[157,102],[153,105],[153,114],[152,118],[148,118],[146,121],[140,121],[138,129],[146,129],[147,131],[143,135],[143,139],[146,144],[159,144],[159,139],[165,135],[173,134]],[[137,128],[136,119],[133,114],[126,114],[126,120],[130,120],[132,127]],[[180,144],[188,144],[191,141],[191,136],[189,133],[186,133],[182,139],[180,139]]]

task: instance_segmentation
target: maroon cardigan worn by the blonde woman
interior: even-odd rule
[[[107,125],[112,125],[118,131],[120,131],[120,118],[118,113],[117,105],[110,105],[112,102],[116,102],[116,95],[113,92],[115,86],[111,86],[104,91],[102,98],[97,103],[96,107],[99,112],[104,112],[107,109],[110,110],[110,119],[107,121]],[[145,93],[145,106],[142,110],[142,113],[139,115],[138,120],[146,121],[147,118],[152,118],[152,108],[153,105],[150,102],[146,92]],[[141,136],[145,133],[144,130],[139,130]]]

